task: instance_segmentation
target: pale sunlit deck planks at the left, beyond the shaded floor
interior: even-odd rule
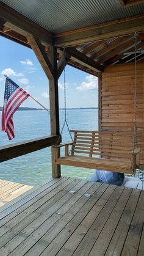
[[[0,207],[33,188],[20,183],[0,180]]]

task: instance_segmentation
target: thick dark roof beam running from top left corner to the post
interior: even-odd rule
[[[5,26],[12,30],[20,32],[20,34],[25,36],[27,33],[33,34],[35,37],[38,37],[41,42],[45,42],[47,45],[52,45],[52,35],[46,31],[46,29],[29,20],[29,18],[26,18],[26,16],[21,13],[16,12],[16,10],[1,1],[0,17],[9,22],[6,23]]]

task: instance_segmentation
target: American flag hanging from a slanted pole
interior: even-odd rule
[[[29,94],[10,78],[5,80],[4,106],[2,108],[1,130],[7,133],[9,140],[15,137],[13,114]]]

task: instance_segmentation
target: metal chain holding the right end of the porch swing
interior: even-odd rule
[[[137,148],[137,32],[134,34],[135,40],[135,60],[134,60],[134,135],[132,142],[132,153]],[[132,170],[135,171],[134,158],[132,158]]]

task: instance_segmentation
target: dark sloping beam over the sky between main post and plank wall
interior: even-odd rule
[[[68,53],[71,55],[71,59],[78,62],[79,64],[84,65],[96,72],[103,71],[103,66],[97,64],[94,60],[90,59],[89,57],[85,56],[85,54],[77,51],[74,48],[67,48]]]

